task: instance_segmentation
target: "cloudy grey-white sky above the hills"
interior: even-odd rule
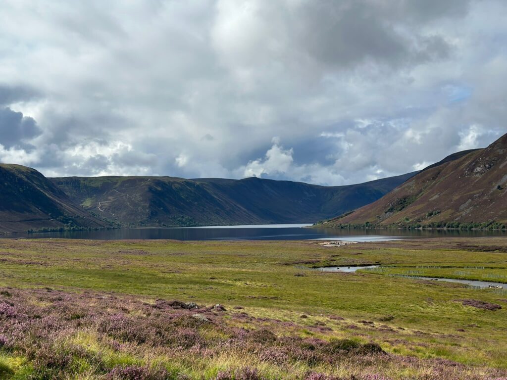
[[[0,0],[0,162],[343,185],[507,132],[504,0]]]

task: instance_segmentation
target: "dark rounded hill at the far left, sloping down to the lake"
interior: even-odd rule
[[[37,170],[0,164],[0,233],[105,225]]]

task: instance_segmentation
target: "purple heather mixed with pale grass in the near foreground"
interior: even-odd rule
[[[0,301],[4,378],[387,380],[393,377],[381,373],[396,376],[394,369],[424,379],[504,373],[390,355],[360,340],[303,337],[297,324],[216,305],[7,291]]]

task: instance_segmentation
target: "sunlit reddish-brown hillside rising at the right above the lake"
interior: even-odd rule
[[[329,226],[501,227],[507,223],[507,134],[431,165]]]

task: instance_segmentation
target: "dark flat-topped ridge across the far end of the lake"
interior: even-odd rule
[[[124,226],[315,222],[373,202],[415,173],[349,186],[259,178],[63,177],[77,204]]]

